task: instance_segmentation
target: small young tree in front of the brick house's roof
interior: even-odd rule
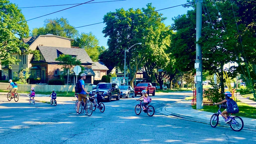
[[[60,54],[58,58],[55,59],[56,61],[59,61],[62,69],[66,70],[66,73],[68,73],[68,70],[71,70],[76,65],[81,65],[81,61],[77,60],[77,58],[72,58],[72,56],[67,54]]]

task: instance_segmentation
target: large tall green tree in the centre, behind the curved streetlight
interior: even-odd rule
[[[116,12],[109,12],[103,18],[106,27],[102,32],[105,34],[104,37],[109,37],[107,42],[109,49],[105,54],[112,56],[109,57],[108,61],[113,62],[114,66],[123,69],[124,49],[130,48],[135,43],[142,42],[142,45],[136,45],[127,52],[126,62],[132,87],[138,69],[143,66],[142,62],[145,60],[145,56],[148,51],[151,51],[152,44],[156,42],[156,39],[154,39],[157,36],[155,31],[165,20],[162,14],[152,12],[155,10],[152,3],[146,6],[147,8],[137,8],[135,10],[130,8],[126,11],[123,8],[116,9]],[[145,12],[152,13],[142,15]],[[124,19],[124,17],[127,18]],[[107,61],[103,62],[106,63]]]

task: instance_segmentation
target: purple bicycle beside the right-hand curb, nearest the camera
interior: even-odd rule
[[[221,108],[221,106],[226,107],[225,105],[219,105],[220,108]],[[211,119],[210,119],[211,127],[216,127],[219,123],[219,115],[221,114],[220,108],[219,108],[217,113],[215,113],[211,116]],[[242,120],[242,118],[240,118],[239,116],[232,117],[231,114],[228,116],[228,118],[230,118],[231,120],[227,124],[230,125],[232,130],[240,131],[240,130],[243,129],[243,120]],[[224,117],[223,117],[223,119],[225,120]]]

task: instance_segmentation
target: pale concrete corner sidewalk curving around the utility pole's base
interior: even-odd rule
[[[163,107],[162,109],[159,109],[159,111],[160,113],[165,115],[172,115],[172,116],[180,117],[186,120],[196,121],[196,122],[205,123],[205,124],[210,124],[210,118],[212,114],[214,114],[210,112],[204,112],[201,110],[193,109],[191,107],[191,100],[178,101],[176,103]],[[256,131],[256,119],[245,118],[245,117],[241,117],[241,118],[243,119],[243,123],[244,123],[243,129],[250,129],[250,130]],[[221,117],[221,115],[219,116],[219,125],[229,126],[225,124],[225,121]]]

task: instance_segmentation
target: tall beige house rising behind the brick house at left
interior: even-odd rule
[[[31,50],[35,50],[37,46],[71,48],[71,41],[73,41],[73,39],[55,36],[52,34],[28,37],[21,40],[25,44],[29,45]],[[27,55],[22,51],[21,55],[19,53],[13,53],[12,55],[21,61],[19,64],[12,65],[12,69],[9,69],[8,66],[2,65],[2,76],[7,75],[8,79],[19,79],[18,75],[21,68],[31,67],[29,62],[31,61],[32,54]]]

